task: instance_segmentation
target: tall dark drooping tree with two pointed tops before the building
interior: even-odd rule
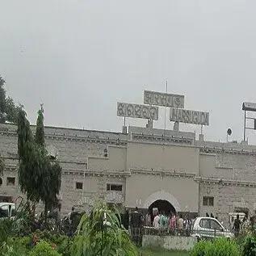
[[[19,185],[27,193],[27,199],[44,202],[46,216],[46,212],[57,203],[61,166],[56,159],[48,156],[45,149],[43,109],[38,111],[35,137],[22,108],[18,117]]]

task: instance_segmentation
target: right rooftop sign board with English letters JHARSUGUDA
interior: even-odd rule
[[[180,108],[170,108],[170,121],[209,125],[209,113]]]

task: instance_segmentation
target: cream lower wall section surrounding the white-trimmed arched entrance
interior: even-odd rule
[[[188,209],[190,212],[198,212],[199,184],[193,178],[132,174],[126,180],[125,204],[129,208],[143,208],[149,196],[157,191],[166,191],[173,195],[182,212]]]

